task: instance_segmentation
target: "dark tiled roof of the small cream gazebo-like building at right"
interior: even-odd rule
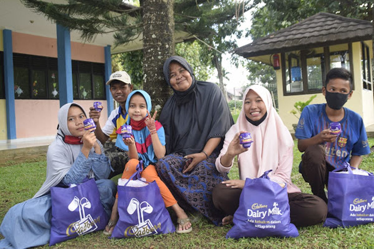
[[[371,22],[320,12],[239,47],[234,52],[244,57],[252,57],[303,49],[306,46],[327,46],[337,42],[369,40],[372,33]]]

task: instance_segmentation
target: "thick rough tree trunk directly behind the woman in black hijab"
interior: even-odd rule
[[[174,0],[142,0],[143,88],[160,109],[172,93],[163,76],[163,63],[174,55]],[[160,110],[159,110],[160,111]]]

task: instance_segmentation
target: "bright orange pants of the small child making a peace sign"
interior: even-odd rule
[[[138,164],[139,164],[139,160],[130,159],[125,166],[125,170],[123,171],[121,178],[129,179],[131,175],[135,173]],[[174,196],[171,194],[168,187],[166,187],[165,183],[161,181],[154,165],[151,165],[151,164],[148,165],[147,168],[145,168],[143,172],[141,173],[141,177],[145,178],[145,180],[148,182],[156,181],[157,186],[159,186],[160,193],[161,193],[162,199],[164,200],[166,208],[174,204],[177,204],[177,200],[175,200]],[[116,194],[116,198],[118,198],[118,193]]]

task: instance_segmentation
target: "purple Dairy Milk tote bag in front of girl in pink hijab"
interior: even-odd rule
[[[295,225],[290,223],[287,188],[271,181],[267,176],[270,171],[259,178],[245,179],[234,226],[226,234],[227,239],[299,235]]]

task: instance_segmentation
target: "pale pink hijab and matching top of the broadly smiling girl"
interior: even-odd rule
[[[252,125],[245,117],[244,102],[249,90],[255,91],[266,106],[267,116],[258,126]],[[269,174],[270,179],[287,183],[289,193],[300,192],[300,189],[291,182],[294,141],[272,105],[270,92],[261,85],[251,85],[245,90],[243,96],[242,111],[236,124],[226,133],[223,149],[216,160],[217,170],[220,172],[230,170],[231,167],[226,168],[221,165],[220,158],[226,153],[236,133],[248,131],[254,142],[248,151],[238,156],[240,179],[257,178],[265,171],[272,169],[273,171]]]

